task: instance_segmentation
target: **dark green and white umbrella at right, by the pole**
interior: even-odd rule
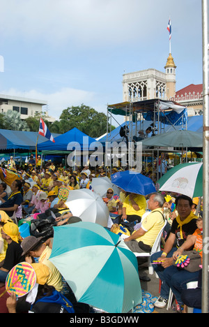
[[[195,198],[203,196],[203,163],[181,163],[157,182],[160,191],[170,191]]]

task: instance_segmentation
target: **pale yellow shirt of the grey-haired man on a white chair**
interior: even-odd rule
[[[141,238],[137,238],[137,242],[141,241],[144,242],[144,244],[153,247],[157,235],[160,233],[162,227],[164,226],[163,215],[161,215],[159,211],[163,214],[163,210],[161,208],[157,208],[144,218],[141,223],[141,228],[144,229],[146,233],[141,236]]]

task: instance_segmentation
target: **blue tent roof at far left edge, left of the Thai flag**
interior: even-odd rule
[[[60,134],[53,134],[54,137],[59,135]],[[42,143],[46,140],[45,137],[38,136],[38,132],[0,129],[0,150],[36,150],[37,137],[38,143]]]

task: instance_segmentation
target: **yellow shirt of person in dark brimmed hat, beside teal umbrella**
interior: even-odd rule
[[[48,260],[51,253],[52,249],[50,249],[50,247],[46,247],[45,250],[42,252],[38,262],[45,264],[49,268],[50,275],[47,280],[47,284],[50,286],[54,286],[54,289],[60,292],[63,289],[62,275],[61,273],[59,273],[59,270],[56,269],[54,264]]]

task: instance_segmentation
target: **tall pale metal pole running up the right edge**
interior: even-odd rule
[[[208,0],[202,0],[203,29],[203,270],[202,313],[208,313],[209,240],[209,103],[208,103]]]

